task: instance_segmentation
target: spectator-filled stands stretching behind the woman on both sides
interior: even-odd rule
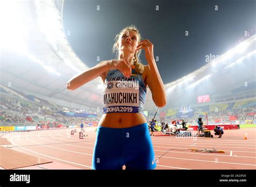
[[[41,110],[38,110],[40,108]],[[59,110],[58,110],[59,111]],[[85,110],[79,109],[70,109],[70,112],[85,112]],[[248,115],[251,113],[251,115]],[[237,116],[238,120],[245,121],[245,120],[256,120],[256,109],[254,106],[251,107],[239,107],[236,109],[230,110],[218,110],[218,111],[210,111],[207,112],[208,123],[215,123],[216,120],[219,120],[219,123],[230,123],[230,116]],[[14,122],[14,123],[24,123],[26,122],[26,117],[38,117],[45,121],[55,121],[59,124],[81,124],[85,123],[85,121],[99,121],[100,114],[96,118],[80,118],[80,117],[67,117],[63,114],[58,113],[57,111],[52,111],[50,107],[47,109],[42,109],[41,106],[36,104],[26,104],[20,102],[19,100],[10,100],[10,99],[1,99],[0,100],[0,122]],[[188,124],[197,124],[198,115],[194,115],[191,118],[184,118]],[[206,117],[204,115],[200,115],[203,121],[206,121]],[[147,116],[146,120],[151,121],[154,118],[153,115]],[[154,118],[157,120],[158,123],[161,123],[159,119],[159,113]],[[165,123],[172,123],[172,120],[180,120],[176,117],[165,120]],[[234,121],[233,121],[234,122]]]

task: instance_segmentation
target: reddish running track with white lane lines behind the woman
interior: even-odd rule
[[[88,137],[70,135],[75,128],[39,130],[3,135],[12,143],[12,149],[53,161],[42,164],[46,169],[91,169],[95,144],[95,128],[87,127]],[[79,129],[77,128],[77,132]],[[247,133],[247,140],[244,134]],[[157,169],[256,169],[256,128],[226,130],[223,138],[177,138],[152,136]],[[10,145],[9,145],[10,146]],[[225,153],[200,153],[183,149],[225,150]],[[23,169],[38,169],[27,167]]]

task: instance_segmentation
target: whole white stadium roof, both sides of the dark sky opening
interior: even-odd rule
[[[66,89],[66,82],[87,67],[86,62],[82,62],[72,51],[63,33],[63,2],[1,1],[0,14],[5,17],[4,33],[1,35],[1,83],[30,95],[49,99],[56,104],[75,108],[102,107],[101,78],[96,78],[74,91]],[[230,92],[242,82],[255,81],[255,41],[256,35],[253,35],[200,69],[166,84],[167,97],[171,98],[171,102],[173,99],[178,100],[179,87],[188,92],[197,83],[201,84],[211,76],[215,77],[211,82],[212,92]],[[236,64],[252,55],[253,63],[248,62],[240,71],[232,70],[235,74],[242,74],[242,78],[238,79],[233,73],[230,74],[231,70],[228,68],[236,67]],[[149,111],[156,109],[149,90],[144,108]]]

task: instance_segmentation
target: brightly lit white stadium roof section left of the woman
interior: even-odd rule
[[[26,93],[97,107],[100,78],[70,91],[66,82],[87,69],[62,32],[63,1],[1,1],[1,83]],[[56,4],[55,4],[56,3]],[[14,24],[11,24],[14,23]]]

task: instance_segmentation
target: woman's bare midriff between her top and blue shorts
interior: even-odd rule
[[[103,114],[99,126],[109,128],[127,128],[144,124],[147,120],[141,113],[107,113]]]

